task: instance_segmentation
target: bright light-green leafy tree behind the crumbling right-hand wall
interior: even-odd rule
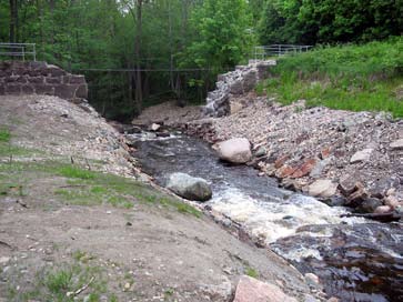
[[[252,16],[245,0],[205,0],[192,12],[194,41],[181,56],[182,66],[218,73],[246,58],[253,44]]]

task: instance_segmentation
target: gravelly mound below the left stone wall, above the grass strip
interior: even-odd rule
[[[138,177],[135,160],[113,127],[89,104],[77,105],[51,95],[2,95],[0,120],[23,120],[11,129],[19,145],[42,150],[75,164],[118,175]]]

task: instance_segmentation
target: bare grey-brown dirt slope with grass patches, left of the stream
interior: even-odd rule
[[[304,301],[283,260],[138,182],[120,141],[89,108],[0,97],[0,301],[231,301],[245,273]]]

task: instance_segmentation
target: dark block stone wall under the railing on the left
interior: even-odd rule
[[[87,99],[88,85],[84,76],[46,62],[0,62],[0,95],[34,93],[79,101]]]

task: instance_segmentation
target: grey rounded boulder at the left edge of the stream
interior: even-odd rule
[[[208,201],[212,197],[209,183],[201,178],[193,178],[185,173],[172,173],[167,188],[184,199]]]

